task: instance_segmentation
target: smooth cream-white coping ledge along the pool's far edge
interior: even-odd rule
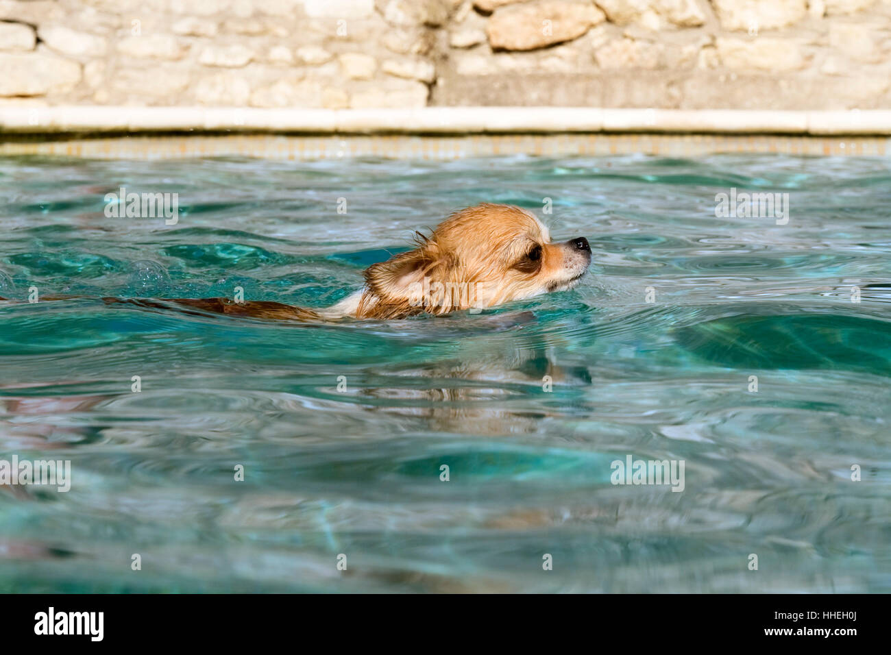
[[[749,111],[586,107],[254,109],[0,106],[0,134],[268,132],[335,134],[891,135],[891,111]]]

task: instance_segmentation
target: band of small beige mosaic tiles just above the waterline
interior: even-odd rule
[[[465,157],[540,157],[654,154],[691,157],[716,152],[884,157],[888,137],[783,135],[44,135],[5,141],[0,155],[62,155],[87,159],[257,157],[336,160],[356,157],[455,160]]]

